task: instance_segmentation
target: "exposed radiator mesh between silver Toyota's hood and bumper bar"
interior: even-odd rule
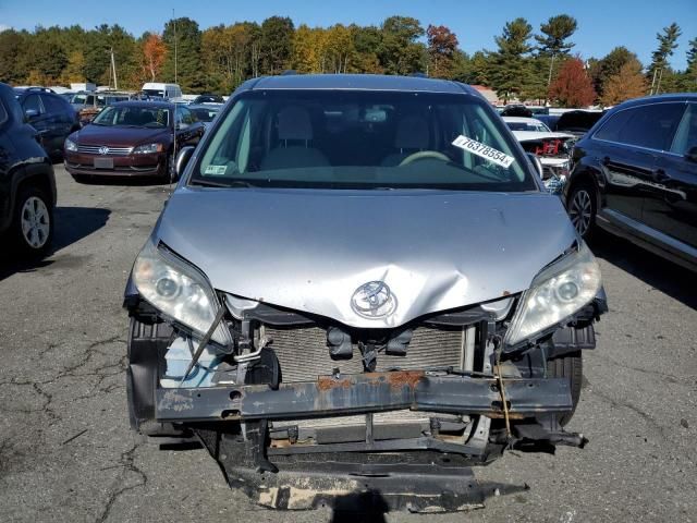
[[[429,367],[460,367],[465,339],[465,328],[440,329],[417,327],[405,356],[378,353],[377,372],[390,368],[424,369]],[[318,327],[271,328],[265,327],[271,338],[270,348],[276,352],[285,382],[311,381],[317,376],[364,372],[362,355],[354,349],[351,360],[332,360],[327,348],[327,331]]]

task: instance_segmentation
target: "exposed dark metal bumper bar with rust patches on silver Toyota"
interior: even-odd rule
[[[572,410],[565,378],[506,378],[512,417]],[[502,417],[497,379],[424,372],[321,376],[316,381],[156,390],[158,421],[298,419],[401,409]]]

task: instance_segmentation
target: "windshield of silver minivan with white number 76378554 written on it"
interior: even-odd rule
[[[259,90],[221,118],[192,184],[537,188],[509,131],[469,95]]]

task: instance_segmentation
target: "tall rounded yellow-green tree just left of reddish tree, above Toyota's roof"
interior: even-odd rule
[[[417,41],[424,36],[420,22],[411,16],[390,16],[381,27],[378,49],[380,65],[388,74],[411,74],[424,71],[426,48]]]

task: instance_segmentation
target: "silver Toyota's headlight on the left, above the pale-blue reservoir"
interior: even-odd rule
[[[135,260],[133,282],[143,299],[201,338],[221,306],[198,269],[157,248],[150,241]],[[218,326],[211,339],[221,345],[232,341],[223,324]]]

